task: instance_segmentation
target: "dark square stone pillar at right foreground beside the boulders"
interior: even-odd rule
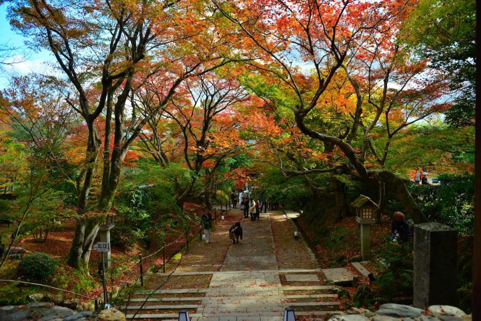
[[[457,305],[457,232],[440,223],[414,225],[413,305]]]

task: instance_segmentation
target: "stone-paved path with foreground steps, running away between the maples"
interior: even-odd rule
[[[279,216],[282,212],[276,211],[261,214],[258,221],[243,219],[244,238],[240,243],[230,244],[219,269],[183,269],[172,274],[182,277],[211,275],[208,288],[161,288],[153,292],[148,304],[135,318],[171,321],[177,318],[180,309],[186,309],[191,321],[282,321],[284,308],[291,306],[296,315],[311,315],[315,320],[329,310],[337,310],[337,294],[333,293],[333,286],[325,284],[323,270],[315,268],[318,264],[306,243],[294,237],[273,236],[272,219],[276,224],[291,224],[285,228],[295,228],[292,221],[280,222]],[[276,230],[285,232],[285,228]],[[292,242],[300,260],[293,268],[288,269],[285,264],[280,268],[278,262],[283,256],[276,252],[275,239]],[[288,248],[288,244],[283,246]],[[138,309],[150,292],[138,292],[128,306],[129,311]],[[127,317],[132,314],[127,313]]]

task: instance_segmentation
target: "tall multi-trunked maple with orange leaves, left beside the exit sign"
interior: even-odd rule
[[[190,75],[207,73],[230,61],[230,43],[210,37],[213,19],[202,2],[105,1],[82,3],[20,1],[10,7],[12,25],[48,49],[67,77],[66,101],[88,129],[85,164],[79,173],[80,212],[88,198],[97,158],[103,158],[96,213],[77,224],[69,263],[88,273],[88,261],[100,223],[110,210],[122,162],[144,125],[165,106]],[[207,37],[208,36],[208,37]],[[150,77],[162,79],[164,96],[155,110],[126,115],[126,102]],[[96,122],[104,114],[104,144]],[[111,148],[111,134],[113,135]]]

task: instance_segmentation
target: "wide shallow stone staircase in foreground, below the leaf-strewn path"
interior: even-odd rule
[[[301,280],[320,269],[210,272],[208,288],[160,289],[136,292],[127,305],[127,318],[177,320],[180,310],[191,321],[282,321],[284,308],[296,315],[322,319],[338,310],[333,285],[281,285],[280,273]],[[303,274],[299,274],[303,273]],[[181,273],[179,273],[181,274]],[[141,308],[146,297],[146,304]],[[124,309],[124,306],[120,306]],[[134,316],[134,314],[136,314]]]

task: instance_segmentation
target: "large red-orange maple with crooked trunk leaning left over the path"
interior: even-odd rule
[[[294,97],[290,108],[300,132],[318,140],[324,153],[342,153],[341,159],[327,162],[329,167],[295,174],[332,171],[389,182],[413,220],[426,221],[402,179],[383,167],[396,133],[449,106],[444,75],[400,44],[400,26],[411,4],[213,3],[263,54],[262,61],[250,66],[284,83]],[[313,73],[302,65],[311,66]],[[326,124],[324,116],[339,119],[338,124]],[[377,132],[379,126],[384,133]],[[387,136],[381,154],[372,144],[380,134]]]

